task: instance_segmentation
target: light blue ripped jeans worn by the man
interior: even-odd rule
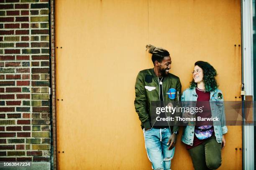
[[[175,147],[168,150],[168,140],[171,136],[169,128],[144,130],[144,139],[148,159],[154,170],[170,170],[171,160],[174,156]]]

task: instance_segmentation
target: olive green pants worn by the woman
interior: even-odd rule
[[[221,165],[221,143],[212,135],[201,145],[189,149],[195,170],[216,170]]]

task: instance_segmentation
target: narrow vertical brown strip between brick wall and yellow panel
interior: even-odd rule
[[[51,2],[51,88],[52,88],[52,131],[53,131],[53,163],[54,170],[58,169],[57,165],[57,126],[56,126],[56,64],[55,64],[55,13],[54,13],[54,2],[55,0],[50,0]]]

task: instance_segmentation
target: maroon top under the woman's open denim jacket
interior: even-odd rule
[[[199,88],[196,87],[196,93],[197,93],[197,101],[208,101],[208,102],[197,102],[197,105],[196,107],[202,107],[202,105],[204,106],[203,107],[203,111],[200,113],[200,112],[197,112],[196,113],[196,117],[200,116],[200,117],[212,117],[212,113],[211,113],[211,107],[210,107],[210,92],[205,92],[205,90],[200,90]],[[196,127],[198,126],[202,126],[202,125],[212,125],[212,122],[209,122],[209,121],[205,121],[205,122],[201,122],[201,121],[196,121]],[[214,132],[213,134],[214,135]],[[196,137],[195,133],[194,133],[194,140],[193,140],[193,145],[187,145],[186,144],[186,148],[187,150],[191,149],[191,148],[194,148],[198,145],[200,145],[201,143],[203,143],[205,140],[207,139],[203,139],[203,140],[200,140]]]

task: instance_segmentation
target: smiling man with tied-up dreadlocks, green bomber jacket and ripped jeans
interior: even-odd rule
[[[153,45],[146,45],[146,50],[152,54],[154,68],[138,73],[134,105],[141,120],[146,151],[152,168],[170,170],[179,127],[152,121],[150,109],[152,101],[159,101],[161,107],[164,106],[162,103],[179,101],[181,83],[179,77],[169,73],[172,60],[167,50]],[[160,117],[164,115],[160,114]]]

